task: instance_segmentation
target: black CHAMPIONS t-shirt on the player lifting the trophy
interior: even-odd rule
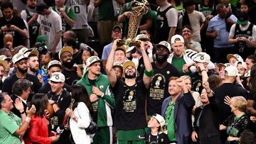
[[[114,127],[117,130],[135,130],[146,127],[145,99],[147,89],[142,80],[129,87],[122,80],[117,79],[114,87],[116,109],[114,113]]]

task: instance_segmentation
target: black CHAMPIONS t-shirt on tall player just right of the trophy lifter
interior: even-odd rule
[[[154,70],[154,76],[152,77],[151,84],[149,86],[149,93],[147,93],[147,113],[149,116],[154,113],[161,114],[161,105],[169,96],[168,84],[170,77],[180,77],[180,73],[173,65],[169,64],[166,67],[159,69],[156,67],[155,62],[151,62]],[[142,67],[139,79],[143,79],[145,67]]]

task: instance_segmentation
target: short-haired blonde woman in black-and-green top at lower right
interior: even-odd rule
[[[234,96],[230,101],[226,101],[226,104],[230,105],[233,115],[220,125],[220,130],[227,130],[228,139],[226,143],[237,144],[239,143],[240,133],[250,128],[250,118],[245,113],[247,101],[242,96]]]

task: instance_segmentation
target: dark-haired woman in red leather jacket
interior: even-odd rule
[[[48,123],[44,115],[45,109],[48,106],[48,97],[46,94],[35,94],[31,99],[31,105],[35,105],[36,113],[31,117],[29,123],[28,135],[25,136],[26,144],[41,143],[50,144],[55,143],[60,135],[49,137]],[[53,133],[52,133],[53,134]]]

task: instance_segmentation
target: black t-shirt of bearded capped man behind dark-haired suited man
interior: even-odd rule
[[[11,75],[10,77],[7,77],[4,80],[4,84],[3,84],[3,90],[2,92],[7,92],[9,95],[12,94],[11,89],[14,85],[14,82],[16,82],[19,78],[16,76],[16,74]],[[26,74],[26,78],[27,80],[29,80],[31,82],[31,89],[34,92],[34,94],[36,94],[38,92],[38,89],[40,89],[41,87],[41,83],[39,82],[38,78],[32,74]],[[28,101],[31,100],[33,94],[30,94],[28,96]]]

